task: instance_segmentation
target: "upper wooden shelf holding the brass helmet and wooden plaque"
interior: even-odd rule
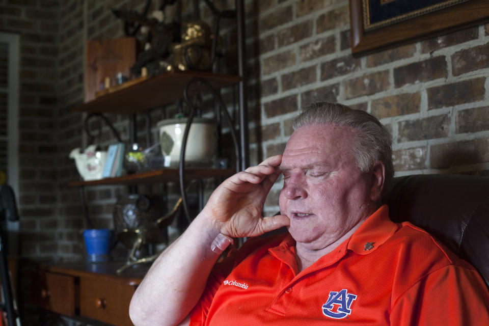
[[[236,84],[241,80],[235,75],[202,71],[169,71],[77,105],[72,110],[116,114],[146,112],[151,108],[181,99],[186,83],[192,78],[206,79],[214,88]],[[189,95],[202,90],[205,88],[193,89],[191,90],[193,93]]]

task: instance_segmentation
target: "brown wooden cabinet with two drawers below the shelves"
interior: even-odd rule
[[[90,318],[117,326],[131,326],[129,303],[145,268],[124,276],[124,263],[30,263],[28,303],[73,318]]]

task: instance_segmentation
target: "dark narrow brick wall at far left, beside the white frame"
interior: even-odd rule
[[[0,29],[20,35],[19,194],[21,252],[57,252],[57,1],[1,1]]]

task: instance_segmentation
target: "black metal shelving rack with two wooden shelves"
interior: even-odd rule
[[[181,148],[179,169],[158,169],[155,171],[142,172],[125,175],[116,178],[105,178],[93,181],[72,181],[69,186],[88,186],[88,185],[137,185],[150,184],[159,182],[179,181],[183,207],[187,219],[189,219],[188,207],[184,191],[184,181],[228,177],[233,173],[244,170],[249,165],[248,154],[248,117],[246,101],[246,72],[244,70],[244,4],[243,0],[236,0],[234,11],[218,11],[210,2],[204,0],[209,6],[216,18],[216,26],[219,26],[219,19],[233,17],[236,21],[237,32],[237,66],[238,75],[216,74],[206,71],[168,71],[154,77],[149,77],[139,83],[131,84],[128,87],[104,94],[89,102],[73,107],[73,111],[87,112],[90,114],[126,114],[129,115],[129,133],[130,140],[134,140],[135,115],[147,113],[149,110],[160,107],[165,104],[173,103],[177,100],[184,99],[187,105],[191,107],[191,113],[187,119],[187,125],[190,126],[196,115],[198,108],[189,100],[190,97],[200,92],[210,92],[214,99],[219,102],[219,115],[223,115],[230,129],[233,142],[235,144],[236,169],[196,169],[184,168],[184,153],[188,128],[183,135],[183,145]],[[218,27],[214,32],[219,34]],[[213,47],[214,48],[214,47]],[[212,54],[213,56],[213,54]],[[234,122],[230,121],[229,114],[225,104],[216,92],[216,89],[228,86],[238,88],[239,98],[239,137],[234,132]],[[108,121],[108,120],[106,120]],[[112,126],[111,126],[112,127]],[[113,128],[113,127],[112,127]],[[114,129],[113,129],[114,130]]]

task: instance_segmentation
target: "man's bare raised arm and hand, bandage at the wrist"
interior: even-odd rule
[[[211,250],[219,233],[257,236],[288,225],[287,216],[261,216],[277,177],[281,155],[267,158],[226,179],[187,230],[153,263],[135,291],[129,315],[134,325],[176,325],[198,302],[219,254]]]

